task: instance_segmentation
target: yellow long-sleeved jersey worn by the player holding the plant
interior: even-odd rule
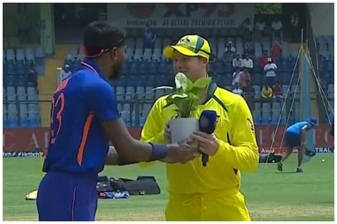
[[[168,106],[167,96],[154,102],[143,129],[144,142],[164,143],[167,123],[176,116],[176,106]],[[215,136],[219,148],[203,167],[201,156],[186,164],[167,164],[168,191],[172,194],[204,194],[210,191],[235,192],[240,189],[240,170],[257,169],[259,153],[250,109],[242,96],[211,82],[204,104],[197,106],[196,116],[204,110],[217,112]]]

